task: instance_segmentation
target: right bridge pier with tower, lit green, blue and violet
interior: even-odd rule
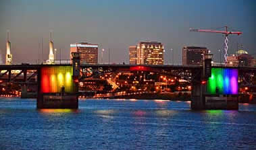
[[[203,71],[192,82],[191,108],[238,110],[238,69],[211,67],[211,56],[204,55]]]

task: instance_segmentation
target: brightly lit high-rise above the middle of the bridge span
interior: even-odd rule
[[[163,44],[161,42],[138,42],[136,46],[129,47],[129,52],[130,64],[163,65]]]

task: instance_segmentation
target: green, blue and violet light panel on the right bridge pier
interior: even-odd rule
[[[238,94],[238,70],[212,68],[207,82],[207,93]]]

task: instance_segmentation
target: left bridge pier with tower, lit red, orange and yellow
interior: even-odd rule
[[[72,66],[44,65],[39,69],[36,108],[78,108],[80,56],[72,55]]]

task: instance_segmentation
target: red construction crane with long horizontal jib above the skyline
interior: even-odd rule
[[[225,66],[228,63],[227,57],[228,57],[228,35],[230,34],[237,34],[238,36],[240,34],[242,34],[242,32],[232,32],[232,31],[228,31],[228,26],[224,26],[226,28],[226,30],[204,30],[204,29],[193,29],[190,28],[190,32],[211,32],[211,33],[217,33],[217,34],[224,34],[225,36],[225,40],[224,40],[224,44],[225,44],[225,54],[224,54],[224,59],[225,59]]]

